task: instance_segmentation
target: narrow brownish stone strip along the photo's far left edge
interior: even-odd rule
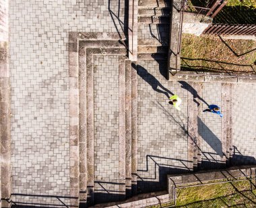
[[[0,42],[0,207],[10,206],[9,196],[11,195],[11,111],[8,47],[8,42]]]

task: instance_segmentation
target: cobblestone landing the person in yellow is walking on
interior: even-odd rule
[[[166,187],[166,173],[187,170],[187,95],[166,81],[154,60],[137,62],[138,192]],[[181,112],[168,104],[172,93],[183,99]],[[160,182],[160,183],[158,183]]]

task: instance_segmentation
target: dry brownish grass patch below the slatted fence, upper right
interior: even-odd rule
[[[256,74],[256,41],[183,34],[181,69]]]

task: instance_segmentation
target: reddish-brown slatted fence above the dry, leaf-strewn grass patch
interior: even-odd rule
[[[214,24],[209,25],[203,31],[203,34],[211,35],[256,35],[256,25],[227,25],[227,24]]]

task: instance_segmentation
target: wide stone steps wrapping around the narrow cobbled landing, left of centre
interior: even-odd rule
[[[81,207],[125,200],[137,193],[137,73],[127,59],[127,49],[119,42],[117,34],[111,33],[73,33],[69,37],[71,120],[79,120],[79,125],[71,122],[70,126],[71,187]],[[108,134],[106,138],[95,126],[97,106],[101,105],[96,103],[102,99],[97,97],[99,90],[94,86],[97,56],[116,56],[119,60],[115,66],[119,104],[117,115],[113,113],[117,117],[117,135]],[[113,161],[118,165],[112,167]],[[75,195],[77,191],[79,196]]]

